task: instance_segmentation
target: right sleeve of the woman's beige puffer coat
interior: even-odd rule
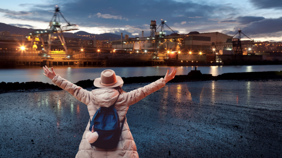
[[[130,92],[123,93],[123,97],[126,100],[127,105],[130,106],[145,98],[147,95],[163,88],[165,85],[165,79],[161,78],[145,87],[141,87]]]

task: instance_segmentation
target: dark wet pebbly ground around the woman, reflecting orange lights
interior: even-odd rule
[[[168,84],[126,114],[139,157],[282,157],[281,86]],[[0,120],[0,157],[75,157],[89,115],[65,91],[22,92],[0,94]]]

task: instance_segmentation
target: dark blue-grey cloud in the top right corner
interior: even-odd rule
[[[281,0],[250,0],[250,2],[259,9],[282,9]]]

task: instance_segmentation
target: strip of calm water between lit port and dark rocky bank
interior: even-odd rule
[[[57,67],[54,68],[56,74],[70,82],[76,83],[80,80],[91,79],[100,77],[101,72],[106,69],[112,69],[116,75],[121,77],[134,77],[134,76],[162,76],[166,71],[176,68],[176,75],[186,75],[194,66],[184,67]],[[254,66],[198,66],[203,74],[213,74],[217,76],[229,72],[261,72],[261,71],[281,71],[282,65],[254,65]],[[21,69],[0,69],[0,82],[29,82],[39,81],[43,83],[52,83],[50,79],[45,77],[42,68],[21,68]]]

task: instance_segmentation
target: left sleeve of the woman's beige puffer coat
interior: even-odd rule
[[[63,90],[66,90],[68,93],[72,94],[75,98],[86,105],[88,105],[93,98],[93,94],[90,91],[70,83],[66,79],[61,78],[59,75],[56,75],[52,79],[52,82]]]

